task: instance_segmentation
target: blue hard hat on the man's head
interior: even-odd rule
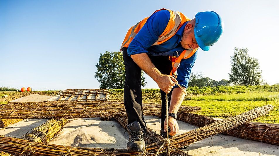
[[[197,13],[194,34],[198,46],[204,51],[218,41],[224,29],[222,18],[214,11]]]

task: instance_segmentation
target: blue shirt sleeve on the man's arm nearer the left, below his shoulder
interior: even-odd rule
[[[153,13],[129,44],[128,55],[147,53],[147,49],[164,32],[169,20],[170,12],[168,10],[160,10]]]

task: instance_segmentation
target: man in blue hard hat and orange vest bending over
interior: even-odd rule
[[[121,46],[125,65],[124,105],[128,117],[130,140],[127,150],[144,152],[143,133],[146,122],[142,113],[141,70],[146,72],[159,86],[162,100],[161,131],[166,137],[179,131],[176,113],[188,88],[191,69],[200,47],[208,51],[223,31],[221,17],[213,12],[197,13],[189,19],[180,12],[160,9],[131,27]],[[166,99],[169,112],[166,123]]]

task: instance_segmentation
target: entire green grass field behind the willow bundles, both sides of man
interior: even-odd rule
[[[109,90],[111,100],[123,101],[123,89]],[[0,91],[0,104],[29,94],[57,95],[59,91]],[[143,89],[143,102],[160,102],[159,89]],[[8,95],[4,98],[4,95]],[[263,123],[279,123],[279,85],[273,86],[220,86],[189,87],[183,105],[200,106],[196,114],[213,118],[227,118],[266,104],[274,106],[270,114],[253,120]]]

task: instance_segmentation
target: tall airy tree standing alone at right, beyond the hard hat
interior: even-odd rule
[[[248,49],[235,47],[231,56],[230,82],[237,85],[261,84],[261,70],[258,59],[248,55]]]

